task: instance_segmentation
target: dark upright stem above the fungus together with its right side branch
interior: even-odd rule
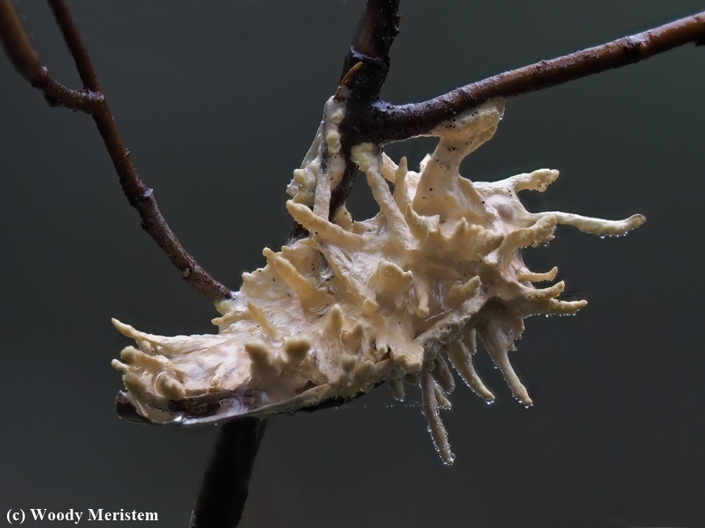
[[[393,105],[379,99],[389,66],[388,51],[398,33],[398,0],[367,0],[350,52],[345,57],[341,89],[345,99],[341,123],[343,152],[350,146],[391,142],[432,133],[442,122],[491,99],[511,97],[563,84],[580,77],[643,61],[683,44],[705,44],[705,11],[630,37],[577,51],[467,84],[429,101]],[[357,167],[346,156],[345,174],[333,189],[331,217],[343,206]]]

